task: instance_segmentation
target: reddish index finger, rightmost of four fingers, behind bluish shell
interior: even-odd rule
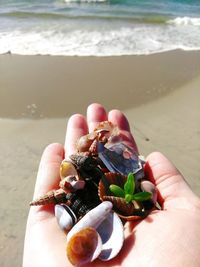
[[[138,152],[138,148],[130,132],[130,125],[126,116],[120,110],[114,109],[108,113],[108,120],[111,121],[114,125],[118,126],[126,145],[133,147]]]

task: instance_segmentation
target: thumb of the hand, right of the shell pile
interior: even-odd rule
[[[182,174],[161,153],[147,157],[145,173],[158,189],[158,201],[163,209],[194,209],[200,206],[199,198],[192,192]]]

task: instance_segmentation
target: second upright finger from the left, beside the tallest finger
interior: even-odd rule
[[[81,114],[72,115],[67,124],[65,138],[65,158],[76,151],[78,139],[88,133],[87,121]]]

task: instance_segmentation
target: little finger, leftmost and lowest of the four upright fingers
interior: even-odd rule
[[[43,152],[38,170],[34,198],[58,187],[60,163],[63,160],[64,148],[61,144],[51,144]]]

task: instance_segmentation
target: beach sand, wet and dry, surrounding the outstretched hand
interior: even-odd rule
[[[0,56],[0,266],[21,266],[43,149],[92,102],[121,109],[140,153],[161,151],[200,196],[200,52],[149,56]]]

